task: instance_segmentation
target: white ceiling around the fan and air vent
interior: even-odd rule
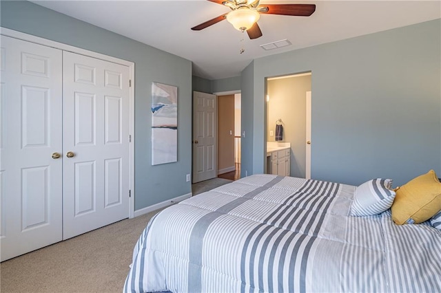
[[[261,4],[314,3],[316,12],[311,17],[261,15],[263,36],[249,40],[226,20],[205,30],[190,30],[230,11],[205,0],[32,2],[186,58],[193,62],[194,75],[209,80],[238,76],[255,58],[441,18],[440,0],[261,0]],[[260,47],[283,39],[292,45],[270,51]]]

